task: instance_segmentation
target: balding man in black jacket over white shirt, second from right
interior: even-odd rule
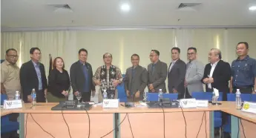
[[[206,65],[203,74],[203,83],[206,84],[206,91],[212,92],[216,88],[223,92],[223,101],[226,101],[226,93],[229,93],[229,80],[231,68],[228,62],[221,60],[221,52],[212,48],[209,52],[209,64]]]

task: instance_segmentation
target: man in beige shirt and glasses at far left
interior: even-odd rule
[[[10,48],[6,50],[5,60],[1,63],[1,93],[6,93],[8,99],[14,99],[15,92],[21,92],[19,82],[19,67],[17,50]]]

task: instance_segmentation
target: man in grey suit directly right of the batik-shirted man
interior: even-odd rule
[[[132,67],[125,73],[125,91],[129,102],[142,100],[144,89],[147,86],[147,70],[139,65],[140,56],[136,53],[131,56]]]

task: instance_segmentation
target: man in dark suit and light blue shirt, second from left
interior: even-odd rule
[[[47,95],[47,79],[45,76],[45,66],[39,62],[41,50],[38,47],[30,49],[29,62],[25,62],[20,70],[20,81],[22,85],[24,102],[32,102],[31,91],[36,90],[36,102],[45,102]]]

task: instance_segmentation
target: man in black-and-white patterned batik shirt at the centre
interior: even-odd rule
[[[97,68],[96,73],[93,76],[93,82],[95,85],[99,85],[99,102],[102,102],[102,93],[104,90],[108,93],[108,99],[117,99],[118,93],[116,86],[122,83],[122,73],[119,68],[112,65],[111,53],[105,53],[103,55],[105,65]]]

